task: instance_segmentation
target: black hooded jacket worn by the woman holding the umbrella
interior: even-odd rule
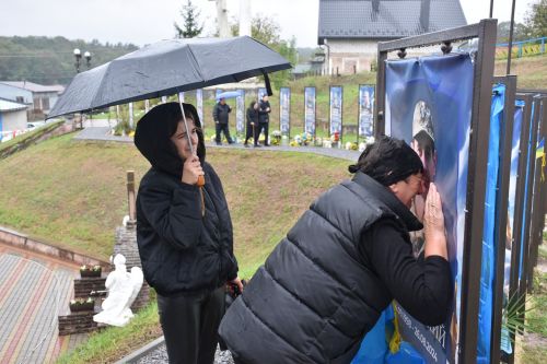
[[[184,108],[199,128],[196,108]],[[213,290],[237,275],[232,221],[222,184],[205,162],[200,130],[205,216],[199,188],[181,181],[183,161],[170,139],[181,119],[177,103],[163,104],[142,117],[135,133],[135,144],[152,165],[137,197],[137,244],[147,282],[164,296]]]

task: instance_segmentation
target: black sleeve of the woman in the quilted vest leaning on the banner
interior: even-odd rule
[[[359,249],[410,315],[428,326],[444,322],[454,294],[450,265],[444,258],[430,256],[418,261],[407,233],[388,219],[376,222],[362,234]]]

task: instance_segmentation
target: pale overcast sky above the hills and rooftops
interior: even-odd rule
[[[226,0],[229,17],[240,11],[238,0]],[[432,0],[435,1],[435,0]],[[511,19],[512,0],[494,0],[493,17]],[[214,32],[214,1],[194,0],[201,10],[205,35]],[[281,37],[296,37],[299,47],[317,45],[318,0],[251,0],[253,15],[274,17]],[[515,20],[522,22],[529,3],[516,0]],[[173,23],[186,0],[1,0],[0,36],[63,36],[98,39],[101,43],[132,43],[138,46],[174,37]],[[467,23],[488,17],[490,0],[461,0]]]

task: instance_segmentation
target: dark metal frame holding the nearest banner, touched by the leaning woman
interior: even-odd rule
[[[450,54],[453,42],[478,38],[473,77],[472,132],[469,136],[462,286],[459,287],[462,290],[462,298],[457,357],[461,363],[475,363],[477,360],[477,317],[482,246],[481,244],[472,243],[482,240],[486,189],[486,175],[484,171],[486,171],[488,160],[488,153],[485,151],[485,146],[488,145],[484,141],[489,140],[490,131],[490,104],[497,23],[498,21],[494,19],[485,19],[478,24],[391,42],[380,42],[377,52],[374,110],[374,133],[376,138],[385,132],[385,61],[389,51],[398,50],[399,58],[405,58],[407,48],[443,44],[441,48],[443,54]],[[479,151],[482,153],[479,153]]]

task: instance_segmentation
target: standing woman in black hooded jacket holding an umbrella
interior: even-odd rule
[[[137,125],[135,144],[152,165],[137,197],[137,244],[170,363],[213,363],[224,284],[235,284],[232,221],[219,176],[205,161],[197,110],[167,103]],[[205,185],[198,187],[203,176]]]

